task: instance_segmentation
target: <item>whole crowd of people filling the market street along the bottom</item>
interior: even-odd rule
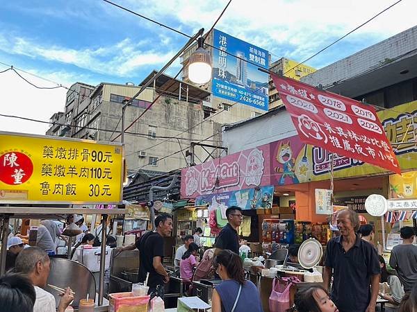
[[[215,286],[212,297],[212,311],[263,311],[259,291],[252,281],[245,279],[240,250],[248,252],[245,241],[239,242],[237,227],[243,214],[239,207],[229,207],[225,225],[213,250],[211,264],[215,276],[222,282]],[[77,222],[81,218],[74,218]],[[172,233],[172,216],[159,214],[155,219],[156,229],[140,236],[135,243],[119,248],[119,251],[140,251],[139,281],[145,281],[149,274],[149,295],[164,297],[164,284],[170,280],[162,261],[164,257],[163,238]],[[295,294],[290,311],[297,312],[374,312],[377,311],[377,297],[386,300],[387,312],[417,312],[417,247],[413,245],[413,227],[402,227],[402,243],[391,251],[389,263],[378,254],[373,241],[373,226],[362,225],[351,209],[338,212],[336,223],[339,236],[327,243],[322,286],[301,288]],[[44,230],[38,236],[40,241],[55,243],[60,232],[51,223],[43,223]],[[95,229],[97,236],[101,228]],[[107,232],[107,229],[106,229]],[[184,244],[177,249],[174,265],[185,284],[190,285],[193,272],[199,263],[199,236],[202,229],[195,229],[194,235],[185,236]],[[49,236],[48,236],[49,235]],[[54,239],[52,236],[54,235]],[[44,237],[47,239],[44,239]],[[93,245],[97,236],[85,232],[74,248],[72,259],[77,260],[76,249]],[[108,236],[110,237],[110,236]],[[67,288],[58,306],[54,296],[44,291],[50,270],[47,254],[49,243],[24,248],[24,236],[13,236],[8,240],[6,266],[9,272],[0,279],[0,311],[65,311],[74,299]],[[115,247],[115,241],[109,240]],[[291,245],[288,262],[297,263],[299,245]],[[204,259],[202,259],[204,260]],[[389,264],[389,266],[387,266]],[[13,269],[13,272],[11,269]],[[243,298],[250,297],[251,300]],[[15,305],[13,302],[19,302]],[[17,308],[18,306],[19,308]]]

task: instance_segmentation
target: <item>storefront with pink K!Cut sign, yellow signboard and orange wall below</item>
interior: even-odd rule
[[[411,114],[416,109],[417,102],[412,102],[396,107],[395,112],[378,113],[402,171],[417,167],[414,154],[417,151],[414,139],[417,130],[412,127],[410,130],[409,127]],[[367,214],[364,202],[373,193],[391,198],[391,173],[356,159],[332,155],[322,148],[303,144],[297,136],[184,168],[181,172],[181,197],[195,198],[195,205],[208,205],[211,236],[227,223],[225,209],[236,205],[243,209],[247,220],[240,229],[241,236],[257,243],[265,240],[269,243],[294,243],[293,239],[272,239],[272,234],[265,236],[262,229],[264,220],[302,221],[310,224],[309,228],[313,229],[312,232],[316,231],[316,236],[318,232],[326,232],[329,214],[318,211],[316,189],[330,189],[332,162],[333,205],[357,211],[362,223],[375,226],[375,245],[382,243],[381,219]],[[407,173],[404,176],[407,181],[413,180]],[[406,189],[399,190],[398,196],[411,192],[413,186],[410,182],[405,185]],[[300,238],[302,235],[297,233],[297,229],[304,231],[305,226],[295,223],[293,229],[293,237]],[[331,233],[328,234],[330,237]],[[326,239],[323,237],[320,241],[325,244]],[[266,249],[270,250],[268,247]]]

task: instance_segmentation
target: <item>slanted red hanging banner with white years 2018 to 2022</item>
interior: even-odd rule
[[[372,106],[297,80],[271,76],[302,141],[401,174]]]

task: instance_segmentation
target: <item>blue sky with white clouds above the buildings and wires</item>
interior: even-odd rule
[[[210,28],[226,0],[114,0],[142,15],[188,34]],[[216,28],[280,57],[301,61],[341,37],[393,0],[310,1],[234,0]],[[320,68],[414,26],[415,0],[403,0],[370,24],[320,53],[307,64]],[[70,86],[140,83],[160,69],[187,38],[100,0],[2,1],[0,62]],[[0,71],[7,67],[0,64]],[[175,62],[168,73],[179,70]],[[41,91],[8,71],[0,74],[2,114],[48,120],[63,110],[65,90]],[[53,84],[25,76],[43,86]],[[24,92],[31,101],[16,102]],[[10,102],[14,105],[3,105]],[[42,110],[39,110],[42,107]],[[44,133],[47,125],[0,117],[1,130]]]

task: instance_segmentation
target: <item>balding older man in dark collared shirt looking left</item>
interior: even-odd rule
[[[333,275],[332,300],[338,311],[375,312],[381,272],[377,252],[356,234],[359,217],[352,209],[339,211],[336,222],[341,236],[327,243],[324,286],[329,289]]]

